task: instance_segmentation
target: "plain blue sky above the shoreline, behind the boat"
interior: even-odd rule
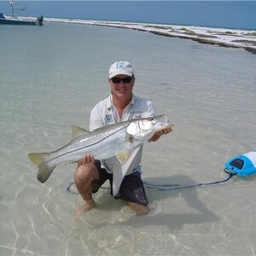
[[[256,30],[256,1],[20,1],[19,15]],[[0,12],[10,14],[9,1]]]

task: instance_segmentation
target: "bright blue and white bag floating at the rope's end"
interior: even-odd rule
[[[256,152],[240,154],[225,163],[225,172],[249,176],[256,172]]]

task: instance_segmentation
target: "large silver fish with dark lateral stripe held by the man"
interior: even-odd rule
[[[73,139],[53,152],[31,153],[28,158],[38,165],[38,181],[44,183],[61,163],[80,160],[84,154],[93,154],[98,160],[116,156],[121,164],[129,157],[130,149],[138,148],[155,131],[171,127],[166,114],[143,119],[131,119],[85,131],[73,126]]]

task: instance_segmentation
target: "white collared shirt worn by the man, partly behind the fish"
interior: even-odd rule
[[[152,102],[133,95],[131,102],[125,107],[122,117],[119,117],[117,109],[113,106],[112,95],[108,96],[90,112],[90,131],[94,131],[104,125],[111,125],[130,119],[147,118],[156,115]],[[113,196],[118,195],[119,187],[125,175],[132,172],[141,172],[140,163],[143,157],[143,146],[131,150],[131,154],[124,165],[120,165],[117,158],[101,160],[102,167],[107,172],[113,173]]]

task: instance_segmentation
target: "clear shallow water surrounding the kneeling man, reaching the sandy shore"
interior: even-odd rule
[[[73,164],[37,180],[30,152],[69,142],[108,96],[108,67],[128,60],[134,92],[166,113],[173,132],[147,143],[143,179],[191,185],[223,180],[224,163],[256,150],[256,61],[243,49],[126,29],[46,23],[0,26],[0,255],[254,255],[256,176],[219,185],[146,189],[137,217],[108,189],[81,218],[67,193]]]

